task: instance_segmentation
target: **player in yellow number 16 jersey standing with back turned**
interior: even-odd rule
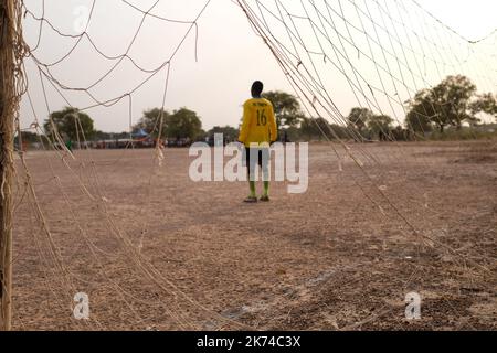
[[[247,203],[257,202],[255,194],[255,165],[258,162],[263,170],[264,193],[261,201],[269,201],[269,159],[271,143],[277,140],[276,119],[273,105],[261,95],[264,89],[262,82],[252,85],[252,99],[243,105],[243,124],[239,141],[245,146],[246,167],[251,193],[245,199]]]

